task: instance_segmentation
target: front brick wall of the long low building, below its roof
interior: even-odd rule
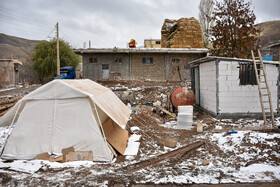
[[[165,54],[165,53],[92,53],[83,54],[83,78],[91,80],[102,79],[102,65],[109,65],[111,75],[120,74],[120,79],[149,79],[179,81],[178,66],[183,80],[191,79],[189,62],[205,56],[201,53]],[[143,57],[153,57],[153,64],[143,64]],[[90,58],[97,63],[90,63]],[[122,62],[115,62],[122,58]],[[172,62],[179,58],[180,63]],[[131,59],[131,67],[130,67]],[[112,76],[111,76],[112,77]]]

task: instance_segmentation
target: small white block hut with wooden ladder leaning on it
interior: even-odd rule
[[[261,116],[252,60],[209,56],[190,64],[197,106],[214,116]],[[279,113],[279,64],[265,62],[275,113]]]

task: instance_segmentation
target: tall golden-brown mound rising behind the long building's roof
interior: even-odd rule
[[[161,28],[162,48],[204,48],[199,21],[195,18],[165,19]]]

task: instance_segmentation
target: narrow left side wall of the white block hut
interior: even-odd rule
[[[216,64],[215,60],[202,63],[199,66],[200,77],[200,106],[206,110],[216,111]]]

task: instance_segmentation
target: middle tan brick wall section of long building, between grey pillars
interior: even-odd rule
[[[153,64],[143,64],[143,57],[153,57]],[[164,54],[132,54],[131,75],[132,79],[165,80]]]

